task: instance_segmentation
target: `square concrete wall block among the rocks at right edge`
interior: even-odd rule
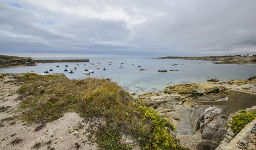
[[[251,108],[252,106],[256,106],[256,92],[230,89],[227,113],[234,113],[241,109]]]

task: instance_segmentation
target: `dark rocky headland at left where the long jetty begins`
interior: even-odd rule
[[[11,66],[34,66],[36,65],[35,63],[37,62],[31,58],[0,55],[0,68]]]

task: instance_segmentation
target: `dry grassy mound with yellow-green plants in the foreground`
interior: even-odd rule
[[[102,149],[123,150],[132,146],[121,142],[121,133],[137,138],[145,150],[183,150],[171,136],[173,125],[159,113],[133,99],[114,82],[107,79],[86,78],[69,80],[65,77],[40,76],[26,73],[16,76],[23,83],[18,93],[21,118],[27,123],[51,122],[66,112],[79,113],[87,121],[103,117],[96,134]],[[78,129],[77,129],[78,130]]]

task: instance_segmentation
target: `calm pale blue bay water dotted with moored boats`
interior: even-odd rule
[[[76,58],[32,58],[39,59],[76,59]],[[37,66],[26,67],[8,67],[0,68],[0,73],[23,73],[31,72],[41,74],[45,69],[52,68],[51,73],[64,73],[68,78],[88,78],[88,77],[105,77],[116,81],[125,90],[130,93],[142,94],[145,92],[159,92],[164,90],[169,85],[191,83],[191,82],[205,82],[211,78],[218,78],[220,81],[247,79],[250,76],[256,75],[256,65],[232,65],[232,64],[213,64],[212,61],[203,60],[169,60],[169,59],[151,59],[151,58],[79,58],[89,59],[84,66],[83,62],[63,62],[63,63],[44,63],[37,64]],[[113,64],[108,65],[111,61]],[[126,64],[125,62],[129,62]],[[100,62],[100,69],[96,69],[89,63]],[[124,63],[123,68],[118,66]],[[134,66],[132,66],[132,62]],[[195,63],[200,62],[200,63]],[[74,73],[64,72],[65,65],[67,69],[73,69]],[[178,64],[173,66],[174,64]],[[59,65],[60,67],[56,67]],[[141,68],[137,67],[138,65]],[[90,67],[89,67],[90,66]],[[102,70],[105,67],[107,70]],[[94,74],[83,74],[84,69],[94,70]],[[139,71],[139,69],[147,69],[146,71]],[[177,69],[179,71],[171,72],[170,69]],[[157,72],[157,70],[168,70],[168,72]]]

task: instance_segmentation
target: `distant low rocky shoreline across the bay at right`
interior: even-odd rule
[[[204,57],[173,57],[166,56],[158,59],[211,60],[214,64],[256,64],[256,57],[251,56],[204,56]]]

